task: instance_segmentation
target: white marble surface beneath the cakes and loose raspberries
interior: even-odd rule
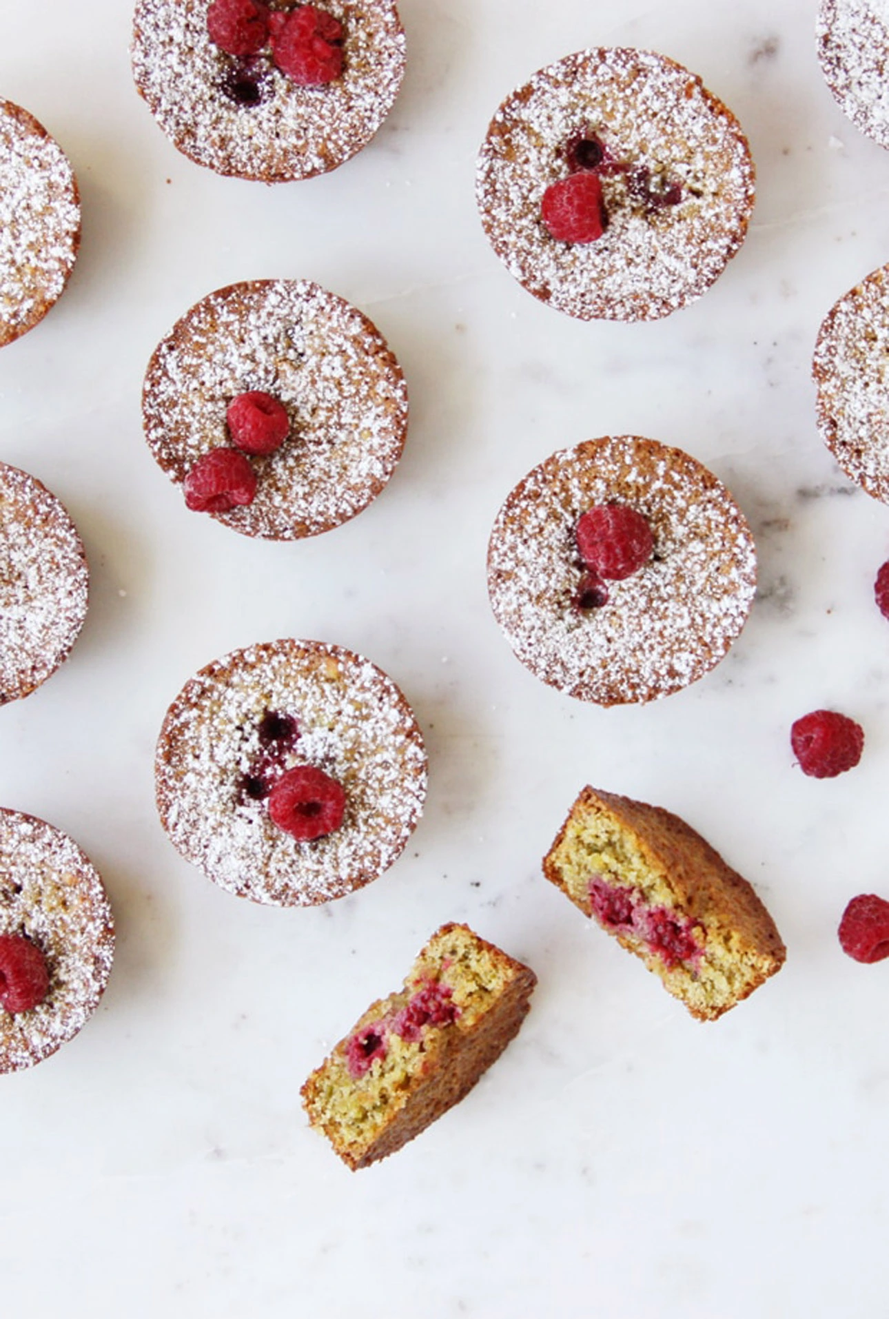
[[[82,181],[74,280],[0,356],[0,458],[67,504],[94,570],[70,662],[0,711],[0,802],[71,832],[120,931],[96,1018],[0,1084],[0,1306],[28,1319],[871,1319],[886,1312],[889,963],[835,936],[889,896],[889,510],[812,419],[822,315],[889,259],[889,156],[847,124],[814,0],[404,0],[410,69],[376,142],[268,190],[179,158],[128,71],[127,0],[0,0],[0,94]],[[534,302],[481,235],[474,160],[499,100],[591,44],[652,46],[737,113],[749,239],[652,326]],[[356,521],[297,545],[190,516],[140,433],[157,339],[194,301],[307,276],[356,302],[413,398],[404,462]],[[514,661],[484,553],[503,497],[557,447],[634,431],[727,481],[761,591],[729,658],[656,706],[600,711]],[[404,687],[431,753],[414,844],[330,907],[215,889],[157,823],[152,752],[199,665],[274,636],[352,646]],[[787,729],[867,729],[830,782]],[[782,973],[702,1026],[539,874],[584,782],[658,802],[753,880]],[[522,1034],[388,1162],[348,1173],[298,1087],[443,919],[539,975]]]

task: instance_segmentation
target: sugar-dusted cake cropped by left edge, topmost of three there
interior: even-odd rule
[[[0,348],[61,297],[80,245],[70,161],[33,115],[0,99]]]

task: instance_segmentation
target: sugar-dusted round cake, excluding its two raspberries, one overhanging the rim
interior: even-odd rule
[[[309,280],[256,280],[191,307],[157,347],[145,376],[145,437],[178,484],[195,462],[231,443],[233,397],[273,394],[290,434],[252,458],[251,504],[218,521],[268,539],[328,532],[376,499],[408,433],[408,386],[368,318]]]

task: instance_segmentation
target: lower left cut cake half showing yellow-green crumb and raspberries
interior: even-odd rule
[[[309,1121],[351,1169],[394,1154],[496,1062],[536,984],[468,926],[442,926],[404,989],[372,1004],[305,1083]]]

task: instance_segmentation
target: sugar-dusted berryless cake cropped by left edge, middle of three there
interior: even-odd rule
[[[54,495],[0,463],[0,706],[45,682],[87,613],[83,542]]]

